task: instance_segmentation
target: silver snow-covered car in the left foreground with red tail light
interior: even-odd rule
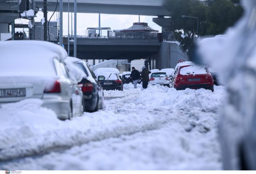
[[[75,67],[68,69],[64,48],[44,41],[8,41],[0,42],[0,54],[0,107],[38,98],[60,120],[81,116],[80,79],[70,72]]]

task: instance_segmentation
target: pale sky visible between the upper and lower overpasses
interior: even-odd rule
[[[51,21],[56,21],[56,14],[52,17]],[[52,12],[48,12],[48,20]],[[58,15],[58,14],[57,14]],[[38,12],[37,17],[35,18],[36,22],[40,22],[43,18],[43,12]],[[152,21],[152,18],[156,16],[140,16],[140,22],[147,22],[148,25],[162,32],[162,27],[158,26]],[[73,14],[74,19],[74,14]],[[126,29],[132,26],[133,22],[138,22],[138,15],[117,15],[117,14],[101,14],[101,27],[110,27],[111,30],[121,30]],[[27,23],[28,20],[17,19],[15,23]],[[73,20],[74,25],[74,20]],[[98,27],[98,14],[92,13],[78,13],[77,14],[77,35],[84,36],[86,28],[88,27]],[[21,29],[16,29],[16,31]],[[74,34],[74,27],[73,27]],[[68,35],[68,13],[63,13],[63,35]],[[70,35],[71,35],[71,13],[70,13]],[[106,32],[102,32],[102,35],[107,35]]]

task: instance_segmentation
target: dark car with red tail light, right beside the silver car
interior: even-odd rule
[[[78,82],[78,86],[83,92],[84,112],[94,112],[103,108],[104,94],[101,84],[98,82],[95,74],[90,70],[87,64],[73,57],[68,57],[68,61],[72,62],[83,72],[83,78]]]

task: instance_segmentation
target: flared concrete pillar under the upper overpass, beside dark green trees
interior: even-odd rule
[[[174,40],[174,32],[171,30],[170,27],[172,25],[171,18],[164,18],[164,16],[158,16],[158,18],[153,18],[153,22],[162,27],[162,37],[164,40]]]

